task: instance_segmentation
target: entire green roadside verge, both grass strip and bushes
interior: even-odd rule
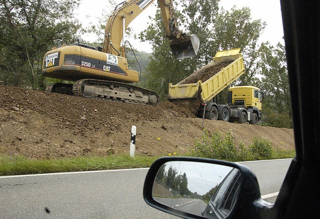
[[[181,156],[231,162],[283,159],[295,156],[295,150],[285,150],[281,146],[271,148],[270,142],[264,139],[256,138],[248,148],[246,149],[242,144],[235,145],[232,133],[228,133],[225,138],[222,138],[221,134],[217,132],[211,136],[204,134],[201,140],[195,142],[194,149],[190,149],[189,153]],[[174,152],[166,156],[177,155]],[[150,167],[157,158],[159,157],[135,156],[131,158],[128,154],[122,154],[106,157],[32,160],[18,154],[0,154],[0,176],[145,168]]]

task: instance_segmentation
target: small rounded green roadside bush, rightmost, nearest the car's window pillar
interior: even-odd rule
[[[249,146],[249,150],[255,159],[264,159],[271,157],[272,147],[271,142],[266,139],[254,137],[252,145]]]

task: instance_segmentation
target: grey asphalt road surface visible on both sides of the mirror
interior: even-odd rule
[[[278,192],[289,163],[242,164],[256,173],[261,195],[266,195]],[[0,177],[0,218],[176,218],[144,203],[146,172],[134,169]]]

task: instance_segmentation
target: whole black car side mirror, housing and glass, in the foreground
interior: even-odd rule
[[[148,205],[182,218],[257,218],[260,196],[246,166],[202,158],[160,158],[143,187]]]

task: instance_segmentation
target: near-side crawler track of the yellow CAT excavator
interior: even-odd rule
[[[75,81],[72,93],[74,96],[134,104],[156,105],[160,101],[155,91],[126,83],[95,79]]]

